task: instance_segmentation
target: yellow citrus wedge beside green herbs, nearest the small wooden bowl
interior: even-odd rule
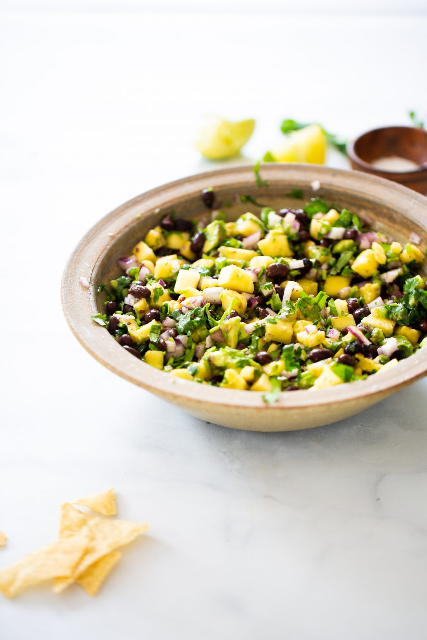
[[[326,154],[326,137],[318,124],[293,131],[264,156],[271,162],[307,162],[323,164]]]

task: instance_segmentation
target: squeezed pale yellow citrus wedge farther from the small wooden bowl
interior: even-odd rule
[[[229,158],[249,140],[254,127],[255,120],[229,122],[220,116],[206,116],[198,127],[194,146],[211,160]]]

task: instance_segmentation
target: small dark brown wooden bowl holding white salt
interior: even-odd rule
[[[352,169],[374,173],[405,187],[427,194],[427,131],[419,127],[382,127],[367,131],[349,143]],[[412,160],[419,169],[408,172],[383,171],[371,164],[381,157],[399,156]],[[423,166],[424,165],[424,166]]]

